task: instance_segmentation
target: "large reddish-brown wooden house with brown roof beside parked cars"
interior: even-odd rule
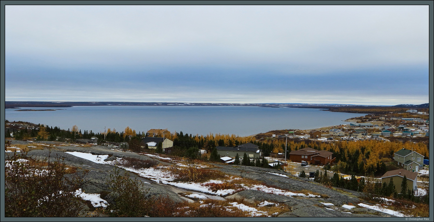
[[[333,164],[336,158],[332,157],[333,153],[326,150],[315,150],[310,147],[300,150],[293,150],[289,153],[289,159],[294,162],[306,161],[309,164],[325,165]]]

